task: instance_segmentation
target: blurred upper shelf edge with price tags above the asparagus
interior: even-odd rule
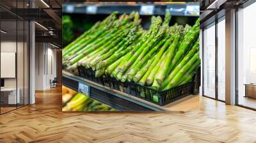
[[[199,16],[199,4],[116,4],[116,5],[86,5],[86,4],[63,4],[63,13],[82,13],[82,14],[110,14],[113,11],[119,13],[131,13],[140,11],[140,15],[164,15],[166,10],[174,16]]]

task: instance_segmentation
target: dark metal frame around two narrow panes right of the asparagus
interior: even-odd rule
[[[218,98],[218,23],[223,20],[223,17],[225,17],[225,11],[219,11],[218,13],[216,13],[215,15],[213,15],[211,18],[209,18],[208,20],[206,20],[202,26],[201,26],[201,29],[202,29],[202,96],[204,97],[207,97],[207,98],[211,98],[213,100],[218,100],[220,102],[225,102],[224,100],[220,100]],[[225,19],[224,19],[225,20]],[[214,23],[214,24],[213,24]],[[204,50],[204,42],[205,42],[205,35],[204,35],[204,31],[205,31],[205,28],[206,27],[211,27],[212,26],[215,26],[215,36],[214,36],[214,41],[215,41],[215,97],[212,98],[210,96],[207,96],[205,95],[205,91],[204,91],[204,87],[205,87],[205,80],[204,80],[204,70],[205,70],[205,67],[204,67],[204,63],[205,63],[205,59],[204,59],[204,56],[205,56],[205,50]]]

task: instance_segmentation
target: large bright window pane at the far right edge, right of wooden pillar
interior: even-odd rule
[[[256,3],[237,12],[238,104],[256,109]]]

